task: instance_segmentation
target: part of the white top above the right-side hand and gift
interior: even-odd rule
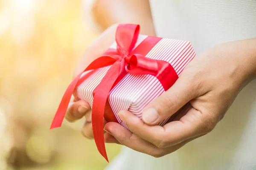
[[[157,36],[188,40],[197,54],[256,37],[256,0],[150,0]]]

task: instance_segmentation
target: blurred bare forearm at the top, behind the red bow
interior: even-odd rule
[[[148,0],[96,0],[93,15],[103,29],[115,23],[140,24],[141,34],[155,36]]]

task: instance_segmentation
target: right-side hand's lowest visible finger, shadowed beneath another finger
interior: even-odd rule
[[[116,140],[118,140],[121,144],[130,147],[131,149],[136,150],[138,152],[145,153],[154,157],[161,157],[166,154],[172,153],[175,150],[182,147],[183,145],[185,145],[187,142],[193,140],[189,139],[175,146],[168,147],[166,149],[160,149],[156,147],[154,144],[151,144],[141,139],[134,133],[131,133],[129,130],[125,129],[125,127],[122,127],[118,123],[107,123],[105,125],[105,130],[111,133],[116,138]]]

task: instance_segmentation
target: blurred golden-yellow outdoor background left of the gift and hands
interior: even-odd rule
[[[0,0],[0,170],[102,170],[83,120],[49,130],[84,50],[100,34],[82,0]],[[107,144],[110,160],[120,146]]]

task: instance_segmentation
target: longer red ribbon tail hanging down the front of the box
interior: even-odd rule
[[[121,64],[122,67],[122,64]],[[93,126],[93,137],[99,153],[108,161],[108,156],[105,149],[104,142],[104,111],[105,105],[108,100],[109,92],[111,91],[116,79],[122,74],[123,69],[120,68],[120,62],[115,62],[108,70],[105,77],[95,89],[92,107],[92,126]]]

